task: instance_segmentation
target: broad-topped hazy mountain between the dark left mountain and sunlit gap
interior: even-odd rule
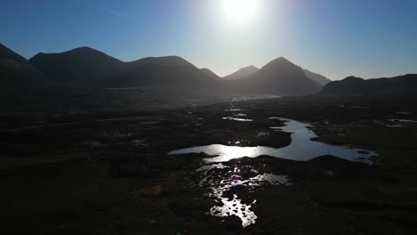
[[[210,75],[177,56],[149,57],[128,62],[122,72],[110,79],[110,85],[116,87],[172,86],[207,92],[211,88],[221,88],[221,85]]]

